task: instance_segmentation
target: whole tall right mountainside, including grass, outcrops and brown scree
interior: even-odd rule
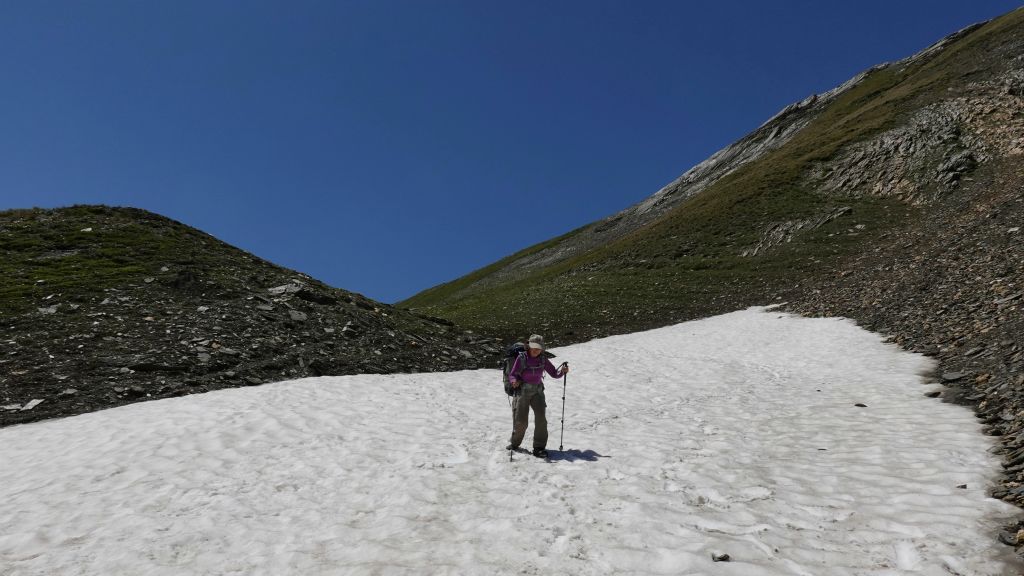
[[[1000,438],[993,495],[1024,505],[1024,9],[812,113],[628,234],[573,244],[612,216],[399,305],[556,344],[768,302],[852,318],[938,361]]]

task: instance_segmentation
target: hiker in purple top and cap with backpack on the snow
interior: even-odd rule
[[[509,381],[515,390],[515,409],[512,416],[512,438],[506,450],[515,450],[522,444],[529,423],[529,409],[534,409],[534,455],[548,456],[547,403],[544,401],[544,372],[552,378],[561,378],[569,371],[568,364],[557,369],[544,355],[544,338],[539,334],[529,337],[526,353],[516,358],[509,371]]]

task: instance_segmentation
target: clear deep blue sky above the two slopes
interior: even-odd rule
[[[0,209],[135,206],[383,301],[1020,2],[0,3]]]

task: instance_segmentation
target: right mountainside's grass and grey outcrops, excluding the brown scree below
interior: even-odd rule
[[[1020,119],[986,109],[1019,101],[1022,14],[790,107],[637,206],[399,305],[574,341],[795,297],[1017,154]]]

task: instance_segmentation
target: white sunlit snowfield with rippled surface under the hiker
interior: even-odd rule
[[[552,352],[550,462],[509,462],[497,370],[0,429],[0,574],[1022,571],[991,439],[849,321],[752,308]]]

